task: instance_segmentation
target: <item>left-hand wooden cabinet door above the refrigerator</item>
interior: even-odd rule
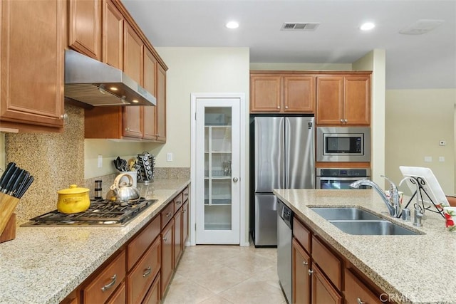
[[[250,112],[280,112],[283,104],[280,75],[250,76]]]

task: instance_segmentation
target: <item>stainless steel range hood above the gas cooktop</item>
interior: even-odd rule
[[[157,104],[122,70],[72,50],[65,51],[65,97],[94,107]]]

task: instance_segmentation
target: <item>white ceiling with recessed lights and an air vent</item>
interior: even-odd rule
[[[249,47],[252,63],[352,63],[386,53],[388,89],[456,88],[456,0],[122,0],[153,46]],[[240,23],[229,30],[224,23]],[[444,22],[402,35],[420,19]],[[361,32],[365,21],[375,23]],[[321,23],[280,31],[284,22]]]

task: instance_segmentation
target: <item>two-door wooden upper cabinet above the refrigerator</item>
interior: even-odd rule
[[[250,75],[250,112],[312,113],[314,108],[314,75]]]

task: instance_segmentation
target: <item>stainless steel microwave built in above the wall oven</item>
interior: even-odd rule
[[[317,127],[317,162],[371,162],[371,127]]]

